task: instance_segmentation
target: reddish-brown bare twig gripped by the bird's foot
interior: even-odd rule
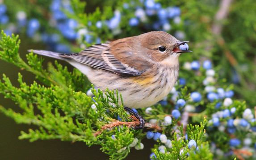
[[[138,126],[140,125],[140,121],[135,117],[135,116],[131,116],[132,120],[134,120],[133,122],[122,122],[119,120],[114,120],[113,122],[110,122],[110,124],[105,124],[104,126],[101,127],[101,131],[97,131],[95,132],[93,135],[94,136],[98,136],[99,134],[101,134],[102,131],[104,131],[105,129],[112,129],[113,127],[117,127],[117,126],[122,126],[122,125],[126,125],[127,127],[134,127],[134,126]],[[144,125],[145,128],[152,128],[157,130],[158,132],[162,132],[163,128],[161,128],[159,125],[157,124],[150,124],[150,123],[145,123]]]

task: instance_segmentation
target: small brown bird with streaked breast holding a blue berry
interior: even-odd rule
[[[149,107],[168,95],[178,79],[180,53],[192,52],[179,48],[188,42],[152,31],[95,44],[79,53],[28,51],[67,61],[102,91],[118,90],[124,109],[140,121],[135,129],[143,129],[146,120],[131,108]]]

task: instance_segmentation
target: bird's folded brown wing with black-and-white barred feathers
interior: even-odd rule
[[[147,63],[139,57],[135,57],[134,61],[136,63],[133,63],[134,61],[131,59],[131,56],[134,55],[131,48],[127,47],[129,45],[126,44],[124,44],[124,46],[125,47],[121,49],[118,43],[113,41],[110,43],[92,45],[77,54],[60,54],[59,56],[76,60],[92,68],[114,72],[122,76],[141,75],[148,68],[148,66],[145,65]]]

